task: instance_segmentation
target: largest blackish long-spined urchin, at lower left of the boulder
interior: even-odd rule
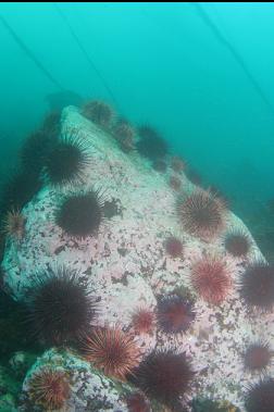
[[[97,313],[97,304],[79,284],[77,272],[64,266],[37,273],[26,299],[33,334],[48,346],[78,340]]]

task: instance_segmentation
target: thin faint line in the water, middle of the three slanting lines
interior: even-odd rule
[[[88,54],[88,52],[85,49],[85,47],[83,46],[83,43],[80,42],[80,40],[79,40],[78,36],[76,35],[74,28],[72,27],[71,23],[68,22],[68,18],[66,17],[66,15],[62,12],[60,7],[55,2],[53,4],[54,4],[59,15],[61,16],[61,18],[65,23],[65,25],[66,25],[68,32],[71,33],[72,37],[74,38],[75,42],[77,43],[78,48],[80,49],[82,53],[84,54],[85,59],[87,60],[89,67],[91,70],[91,73],[94,74],[94,72],[95,72],[97,74],[97,76],[100,78],[101,83],[103,84],[105,90],[108,91],[110,98],[112,99],[113,103],[115,103],[115,105],[117,108],[117,100],[116,100],[113,91],[111,90],[109,84],[107,83],[107,80],[102,76],[101,72],[98,70],[98,67],[94,63],[94,60],[90,58],[90,55]]]

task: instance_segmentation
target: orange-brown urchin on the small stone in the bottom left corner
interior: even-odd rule
[[[28,385],[30,401],[45,411],[61,409],[70,398],[70,384],[61,371],[41,369],[32,376]]]

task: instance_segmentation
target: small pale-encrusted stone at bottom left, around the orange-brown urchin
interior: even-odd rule
[[[125,398],[130,388],[121,382],[103,376],[85,360],[70,351],[49,350],[37,359],[23,384],[24,403],[27,408],[39,407],[35,402],[35,378],[42,371],[62,371],[70,384],[70,391],[63,404],[66,412],[113,412],[126,411]],[[37,408],[41,410],[42,408]]]

